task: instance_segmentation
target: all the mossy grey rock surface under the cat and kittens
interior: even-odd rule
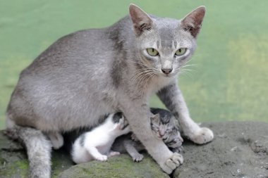
[[[210,122],[204,126],[214,131],[215,139],[197,146],[183,143],[184,163],[171,177],[244,177],[268,178],[268,123]],[[73,165],[68,153],[54,151],[53,177],[169,177],[145,153],[141,163],[128,155],[109,158],[108,162],[92,161]],[[0,132],[0,177],[27,177],[28,160],[20,144]]]

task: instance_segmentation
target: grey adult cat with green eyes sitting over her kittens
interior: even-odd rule
[[[154,93],[190,140],[213,139],[210,129],[191,120],[177,87],[177,74],[195,51],[205,7],[182,20],[147,15],[132,4],[129,11],[111,27],[62,37],[21,72],[7,128],[27,147],[30,177],[50,177],[51,145],[63,144],[62,132],[97,125],[101,115],[119,110],[152,158],[171,173],[182,157],[151,132],[148,99]]]

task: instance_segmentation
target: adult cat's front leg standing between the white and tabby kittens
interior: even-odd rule
[[[150,128],[150,108],[138,99],[126,99],[121,103],[121,110],[126,116],[133,133],[145,146],[152,158],[162,167],[164,172],[171,174],[183,163],[182,155],[169,151],[162,140],[158,140],[152,134]]]

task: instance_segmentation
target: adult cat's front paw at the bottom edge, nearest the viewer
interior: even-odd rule
[[[164,162],[163,165],[160,165],[162,170],[167,174],[171,174],[173,170],[176,169],[179,165],[183,164],[183,156],[179,153],[173,153],[170,158]]]

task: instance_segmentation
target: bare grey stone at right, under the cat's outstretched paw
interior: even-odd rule
[[[212,122],[205,125],[213,130],[215,139],[202,146],[183,143],[185,161],[173,177],[268,177],[268,123]]]

